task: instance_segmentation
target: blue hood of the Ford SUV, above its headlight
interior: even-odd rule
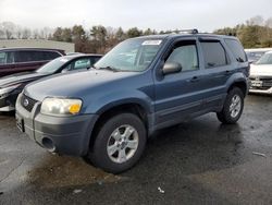
[[[39,101],[46,97],[82,98],[99,86],[110,86],[121,79],[137,75],[137,72],[112,72],[89,70],[76,73],[58,74],[36,81],[25,87],[24,93]]]

